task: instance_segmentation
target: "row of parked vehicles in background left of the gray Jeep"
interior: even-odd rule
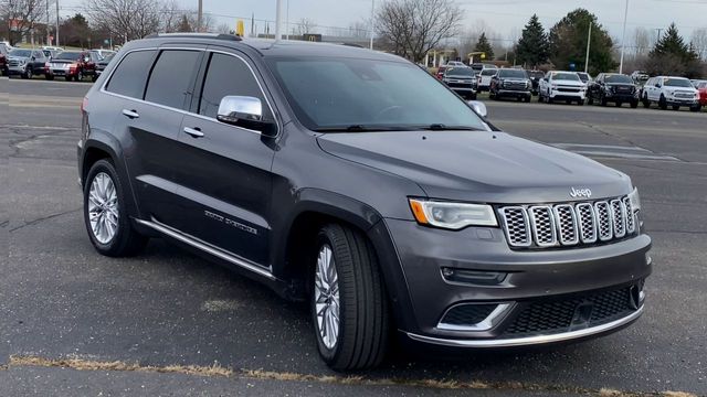
[[[67,82],[95,82],[114,55],[109,50],[13,49],[0,43],[0,72],[10,78],[43,75],[49,81],[62,77]]]

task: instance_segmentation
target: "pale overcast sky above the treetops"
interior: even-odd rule
[[[52,0],[50,0],[52,1]],[[146,0],[150,1],[150,0]],[[196,9],[197,0],[178,0],[184,9]],[[381,3],[384,0],[376,0]],[[532,13],[540,17],[549,29],[567,12],[579,7],[598,15],[600,23],[610,34],[621,39],[625,0],[460,0],[465,10],[465,28],[474,29],[479,21],[493,26],[490,30],[505,40],[514,39]],[[308,18],[321,26],[348,28],[352,22],[367,20],[371,12],[371,0],[283,0],[283,12],[289,3],[289,21],[294,23]],[[62,14],[73,14],[82,0],[60,0]],[[243,18],[246,31],[254,13],[256,20],[275,20],[275,0],[203,0],[204,12],[218,19],[218,23],[234,26],[238,18]],[[285,17],[283,15],[283,20]],[[707,0],[630,0],[626,41],[636,26],[666,28],[675,22],[685,36],[699,28],[707,28]],[[257,22],[264,29],[265,22]],[[274,26],[271,25],[271,31]],[[326,28],[320,33],[327,34]]]

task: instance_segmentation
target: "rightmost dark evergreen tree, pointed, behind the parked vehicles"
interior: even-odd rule
[[[665,34],[648,53],[646,69],[651,74],[684,75],[698,77],[699,56],[694,46],[687,45],[675,23],[671,23]]]

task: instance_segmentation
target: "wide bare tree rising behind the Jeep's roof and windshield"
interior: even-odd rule
[[[414,62],[460,33],[464,12],[454,0],[388,0],[377,11],[378,34]]]

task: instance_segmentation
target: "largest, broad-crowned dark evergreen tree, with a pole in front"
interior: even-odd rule
[[[589,52],[589,73],[612,72],[619,66],[613,60],[613,41],[609,32],[598,22],[597,15],[577,9],[569,12],[550,30],[550,61],[558,68],[574,64],[578,69],[584,65],[587,56],[587,34],[592,24],[592,40]]]

